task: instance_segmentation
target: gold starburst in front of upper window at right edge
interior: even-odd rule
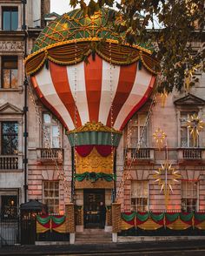
[[[187,120],[187,127],[190,132],[190,135],[193,138],[193,146],[195,147],[196,141],[199,137],[199,132],[203,130],[205,123],[197,114],[191,115]]]

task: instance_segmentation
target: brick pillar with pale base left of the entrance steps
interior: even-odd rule
[[[75,209],[74,204],[65,205],[66,231],[69,232],[69,243],[75,243]]]

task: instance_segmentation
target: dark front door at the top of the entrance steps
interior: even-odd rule
[[[104,189],[84,190],[84,227],[100,227],[100,203],[105,203]]]

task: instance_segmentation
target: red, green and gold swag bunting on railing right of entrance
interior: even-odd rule
[[[205,212],[122,212],[122,230],[140,228],[156,230],[168,227],[184,230],[189,227],[205,230]]]

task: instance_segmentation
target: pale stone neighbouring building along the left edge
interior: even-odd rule
[[[24,68],[23,2],[0,1],[0,212],[17,216],[24,202]],[[44,26],[50,1],[29,0],[25,5],[28,51]]]

